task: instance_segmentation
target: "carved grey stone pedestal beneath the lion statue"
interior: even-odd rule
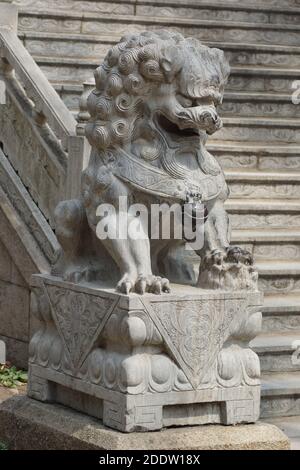
[[[124,295],[44,275],[34,286],[30,397],[125,432],[258,419],[261,294]]]

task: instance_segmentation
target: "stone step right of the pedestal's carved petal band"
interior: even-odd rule
[[[251,342],[262,372],[300,371],[300,316],[298,330],[264,333]]]

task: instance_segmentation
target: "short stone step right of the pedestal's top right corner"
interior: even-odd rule
[[[274,333],[300,330],[300,296],[265,295],[262,332]]]

